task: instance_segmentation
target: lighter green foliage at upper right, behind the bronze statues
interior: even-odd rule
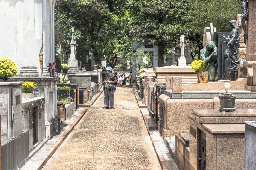
[[[193,19],[189,23],[198,32],[200,45],[203,44],[204,27],[210,23],[216,27],[217,32],[229,32],[229,21],[236,20],[237,14],[241,13],[241,0],[189,0],[193,8]]]

